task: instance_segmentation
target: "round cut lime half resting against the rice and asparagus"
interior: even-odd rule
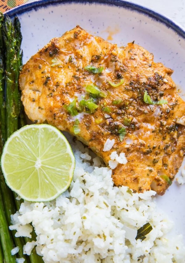
[[[75,168],[71,146],[48,124],[27,125],[14,132],[2,153],[7,185],[27,201],[55,199],[70,185]]]

